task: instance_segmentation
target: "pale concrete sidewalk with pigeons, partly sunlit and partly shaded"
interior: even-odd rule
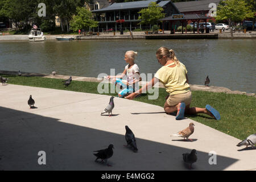
[[[255,170],[255,149],[191,119],[176,121],[163,108],[114,98],[113,117],[100,115],[110,96],[20,85],[0,85],[0,170],[188,170],[182,154],[197,150],[192,170]],[[27,100],[35,100],[29,109]],[[207,103],[205,103],[207,104]],[[170,137],[195,124],[193,142]],[[212,122],[221,122],[213,119]],[[125,125],[137,138],[138,153],[124,147]],[[108,160],[96,163],[94,150],[114,145]],[[46,165],[39,165],[39,151]],[[210,165],[209,152],[217,153]]]

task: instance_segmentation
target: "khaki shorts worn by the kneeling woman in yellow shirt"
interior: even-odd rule
[[[185,105],[187,106],[191,104],[191,101],[192,101],[192,95],[190,90],[187,93],[180,93],[172,96],[170,95],[167,98],[167,104],[170,106],[175,106],[180,102],[185,102]]]

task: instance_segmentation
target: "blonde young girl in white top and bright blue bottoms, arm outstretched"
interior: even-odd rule
[[[106,79],[114,78],[115,85],[118,84],[121,89],[124,88],[118,93],[118,97],[125,97],[139,89],[139,84],[137,82],[141,81],[141,77],[139,77],[139,67],[134,63],[136,55],[137,52],[127,51],[125,53],[125,61],[128,64],[126,65],[125,70],[123,70],[122,75],[106,77]],[[127,82],[122,80],[125,76],[127,77]]]

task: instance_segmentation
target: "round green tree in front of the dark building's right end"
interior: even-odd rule
[[[163,10],[156,2],[151,2],[146,9],[138,12],[141,14],[138,18],[141,20],[139,24],[156,24],[159,19],[164,18],[165,14],[162,13]]]

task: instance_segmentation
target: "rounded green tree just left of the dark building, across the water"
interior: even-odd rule
[[[77,31],[82,28],[97,27],[98,22],[93,20],[92,12],[86,10],[84,7],[76,8],[77,15],[73,16],[71,20],[71,29]]]

